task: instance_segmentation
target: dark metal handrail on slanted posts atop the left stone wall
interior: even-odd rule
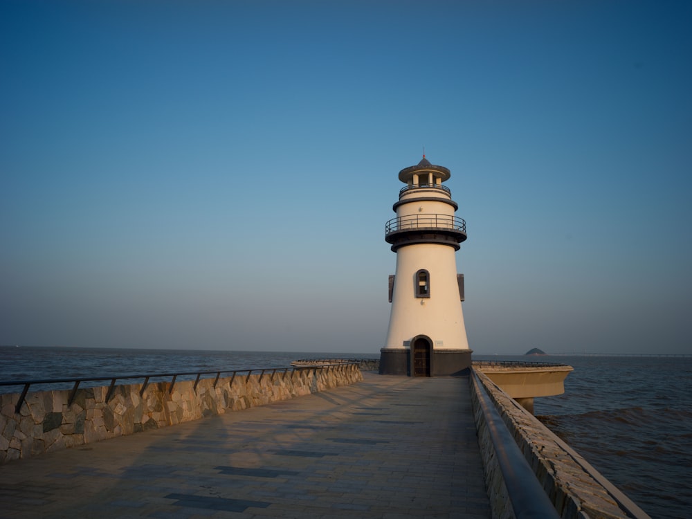
[[[214,374],[216,375],[216,378],[214,380],[214,387],[216,388],[217,382],[219,381],[219,378],[221,374],[233,374],[233,379],[235,379],[235,376],[237,373],[245,373],[247,372],[247,377],[246,381],[250,379],[250,375],[252,372],[260,372],[260,381],[262,380],[262,377],[264,376],[265,372],[271,372],[271,379],[274,379],[274,376],[276,372],[284,372],[284,377],[286,376],[286,373],[291,370],[291,377],[293,376],[293,373],[296,371],[304,371],[304,370],[324,370],[324,369],[329,369],[333,368],[335,366],[343,366],[343,365],[350,365],[350,364],[357,364],[357,361],[341,361],[338,359],[332,359],[334,362],[331,363],[324,363],[320,365],[307,365],[307,366],[291,366],[291,367],[265,367],[265,368],[257,368],[253,367],[250,369],[245,369],[245,370],[212,370],[212,371],[195,371],[195,372],[176,372],[176,373],[155,373],[155,374],[135,374],[135,375],[118,375],[118,376],[96,376],[96,377],[91,377],[91,378],[71,378],[71,379],[39,379],[39,380],[28,380],[28,381],[0,381],[0,386],[8,386],[8,385],[24,385],[24,389],[21,391],[21,394],[19,395],[19,401],[17,401],[17,405],[15,406],[15,412],[19,413],[19,410],[21,409],[21,404],[24,403],[24,399],[26,399],[26,394],[28,393],[28,390],[31,385],[37,385],[37,384],[60,384],[60,383],[74,383],[73,388],[70,392],[69,399],[67,401],[67,405],[71,406],[72,402],[75,399],[75,396],[77,394],[77,390],[80,387],[80,383],[82,382],[99,382],[99,381],[111,381],[111,385],[108,388],[108,392],[106,394],[106,402],[110,400],[111,396],[113,396],[113,390],[115,389],[116,385],[116,380],[128,380],[128,379],[144,379],[144,382],[142,384],[142,388],[140,388],[139,394],[142,396],[144,394],[145,389],[147,388],[147,385],[149,385],[149,379],[159,379],[163,377],[172,377],[170,387],[168,388],[168,392],[173,391],[173,386],[175,385],[176,379],[179,376],[192,376],[195,375],[197,378],[194,381],[194,386],[192,387],[193,390],[197,390],[197,384],[199,383],[199,379],[202,375],[210,375]]]

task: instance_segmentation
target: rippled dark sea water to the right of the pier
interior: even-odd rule
[[[692,357],[546,361],[574,372],[535,400],[539,419],[650,516],[692,517]]]

